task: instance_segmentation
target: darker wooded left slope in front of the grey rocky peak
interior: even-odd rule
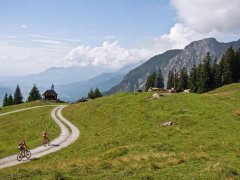
[[[130,92],[143,89],[145,81],[149,74],[155,72],[158,68],[163,69],[169,61],[181,53],[182,50],[169,50],[163,54],[157,55],[143,63],[141,66],[130,71],[120,84],[114,86],[106,94],[115,92]]]

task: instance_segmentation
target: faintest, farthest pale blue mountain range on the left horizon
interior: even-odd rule
[[[6,87],[16,87],[19,84],[22,87],[32,87],[37,84],[42,87],[49,87],[52,83],[55,85],[68,84],[83,80],[88,80],[103,72],[111,72],[110,69],[103,69],[101,67],[79,67],[72,66],[51,67],[42,73],[31,74],[26,76],[0,76],[0,84]]]

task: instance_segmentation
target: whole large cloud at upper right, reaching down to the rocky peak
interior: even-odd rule
[[[237,40],[240,36],[240,1],[171,0],[177,11],[177,23],[154,40],[152,47],[165,51],[184,48],[190,42],[215,37],[220,41]]]

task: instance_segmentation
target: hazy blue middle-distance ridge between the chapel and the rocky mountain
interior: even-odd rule
[[[81,97],[86,97],[91,88],[95,89],[97,87],[101,92],[109,90],[111,87],[120,83],[124,75],[138,65],[139,63],[127,65],[117,72],[104,73],[87,81],[79,81],[66,85],[57,85],[55,86],[55,89],[60,95],[60,99],[65,101],[76,101]]]

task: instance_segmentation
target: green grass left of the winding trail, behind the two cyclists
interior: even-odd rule
[[[4,108],[4,110],[12,111],[34,105],[39,104],[26,103],[18,107]],[[48,130],[52,139],[57,137],[60,134],[60,128],[51,119],[52,109],[53,107],[41,107],[0,116],[0,158],[18,153],[17,146],[21,139],[26,140],[31,149],[41,145],[41,133],[44,129]]]

